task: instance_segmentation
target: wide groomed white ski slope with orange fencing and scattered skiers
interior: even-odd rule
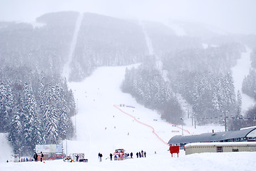
[[[148,154],[155,151],[165,153],[168,145],[163,142],[168,142],[174,135],[181,135],[181,125],[170,125],[156,111],[143,107],[131,95],[121,91],[126,68],[130,67],[133,66],[100,67],[85,81],[68,83],[78,102],[77,137],[76,141],[68,141],[68,154],[84,152],[90,160],[97,161],[98,152],[106,156],[118,148],[133,153],[141,150]],[[114,108],[114,104],[134,106],[121,107],[124,113],[129,113],[133,118]],[[205,133],[214,127],[192,130],[193,133]],[[183,125],[183,129],[190,130],[190,127]],[[184,135],[189,133],[184,131]]]

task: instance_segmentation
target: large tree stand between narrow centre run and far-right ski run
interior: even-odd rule
[[[230,68],[240,57],[239,43],[206,49],[188,48],[165,54],[170,86],[183,95],[198,124],[222,123],[223,111],[236,115],[239,110]]]

